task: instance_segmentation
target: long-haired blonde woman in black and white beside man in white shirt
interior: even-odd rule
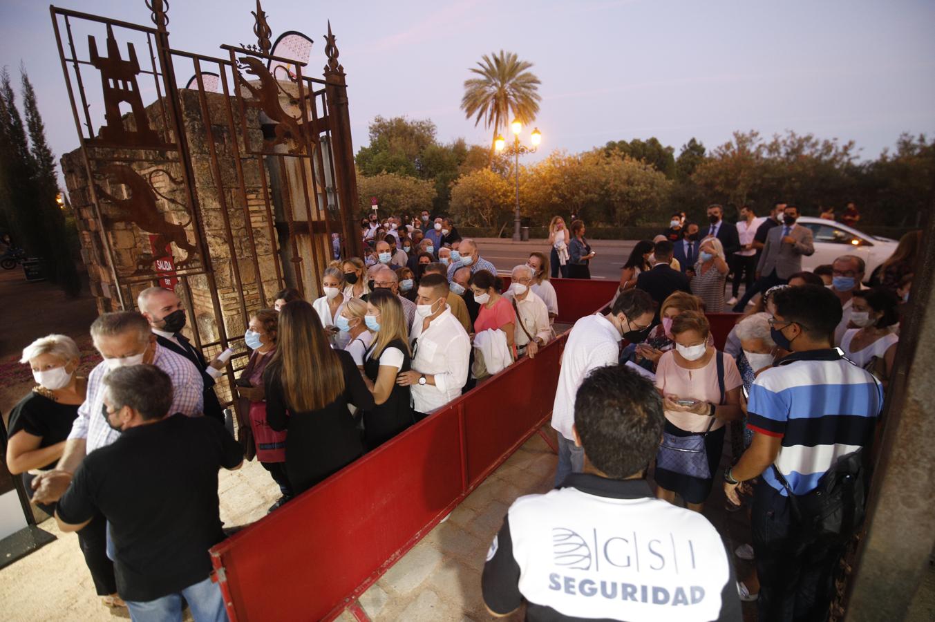
[[[375,404],[364,411],[364,441],[370,450],[415,423],[410,387],[396,383],[396,376],[410,370],[412,353],[406,313],[392,290],[378,289],[370,294],[364,319],[375,331],[364,359],[367,388]]]

